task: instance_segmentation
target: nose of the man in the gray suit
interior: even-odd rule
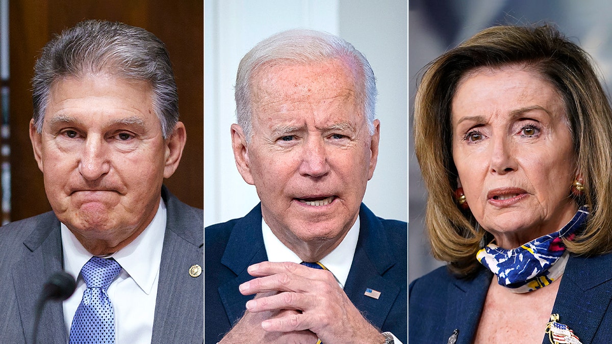
[[[95,181],[108,173],[110,162],[103,138],[96,135],[86,138],[78,168],[81,176],[89,181]]]

